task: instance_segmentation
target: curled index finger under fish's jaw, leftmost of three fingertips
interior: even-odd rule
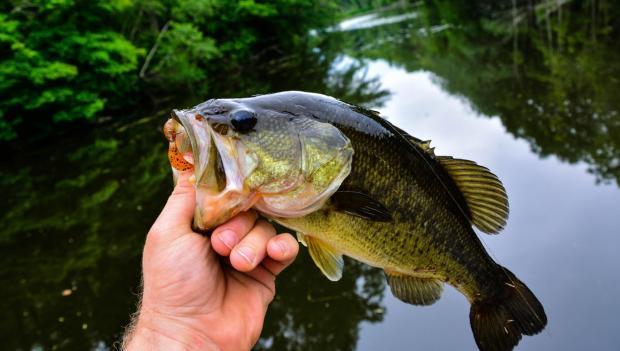
[[[256,222],[254,211],[242,212],[228,222],[215,228],[211,234],[211,245],[222,256],[230,255],[232,249],[243,239]]]

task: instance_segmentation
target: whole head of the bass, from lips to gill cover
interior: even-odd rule
[[[173,121],[189,140],[199,229],[252,207],[273,217],[304,216],[351,171],[353,148],[338,128],[252,98],[209,100],[175,110]]]

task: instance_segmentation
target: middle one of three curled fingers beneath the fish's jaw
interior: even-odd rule
[[[256,268],[267,254],[267,242],[276,235],[269,222],[258,220],[248,235],[235,246],[230,254],[230,263],[241,272]]]

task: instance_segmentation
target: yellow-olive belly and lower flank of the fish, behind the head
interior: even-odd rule
[[[276,221],[320,239],[357,261],[386,272],[438,279],[453,285],[468,298],[483,293],[489,285],[490,265],[485,255],[478,253],[480,256],[470,257],[478,250],[472,250],[471,243],[462,242],[467,238],[458,233],[436,239],[410,223],[372,222],[333,211]]]

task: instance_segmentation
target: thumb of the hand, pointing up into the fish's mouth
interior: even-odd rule
[[[194,186],[188,180],[191,175],[192,172],[179,174],[177,185],[155,220],[149,235],[157,234],[174,240],[180,235],[192,232],[196,194]]]

